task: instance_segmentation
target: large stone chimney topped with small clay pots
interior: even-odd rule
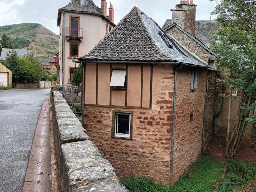
[[[193,0],[180,0],[180,4],[172,9],[172,23],[175,22],[195,36],[196,8]]]

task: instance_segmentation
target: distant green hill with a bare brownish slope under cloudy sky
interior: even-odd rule
[[[0,26],[0,36],[5,33],[11,38],[11,44],[16,49],[29,47],[36,50],[37,56],[55,54],[59,49],[59,36],[38,23],[23,23]]]

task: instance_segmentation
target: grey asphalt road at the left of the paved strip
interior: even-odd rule
[[[0,191],[21,191],[49,89],[0,91]]]

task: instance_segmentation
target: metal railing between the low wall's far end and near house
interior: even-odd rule
[[[57,86],[57,91],[62,93],[67,103],[81,103],[81,92],[78,86]]]

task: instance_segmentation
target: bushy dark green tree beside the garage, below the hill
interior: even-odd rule
[[[32,54],[19,57],[16,52],[9,52],[5,66],[12,71],[13,83],[37,82],[46,76],[44,66]]]

